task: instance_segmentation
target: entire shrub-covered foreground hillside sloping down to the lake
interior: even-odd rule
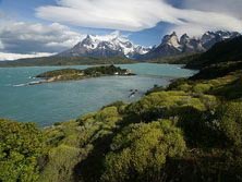
[[[226,62],[48,129],[0,120],[0,180],[242,181],[242,71]]]

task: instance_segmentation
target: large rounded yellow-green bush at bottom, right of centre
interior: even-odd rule
[[[182,132],[171,121],[131,124],[118,134],[106,156],[102,181],[155,181],[167,158],[185,150]]]

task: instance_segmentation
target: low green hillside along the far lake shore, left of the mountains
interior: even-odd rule
[[[33,59],[20,59],[16,61],[0,61],[0,68],[8,66],[46,66],[46,65],[84,65],[84,64],[123,64],[135,63],[128,58],[92,58],[92,57],[46,57]]]

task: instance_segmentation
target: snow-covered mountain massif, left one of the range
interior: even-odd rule
[[[109,35],[87,35],[72,49],[60,53],[60,56],[90,56],[90,57],[113,57],[122,56],[135,58],[138,54],[147,53],[150,48],[134,45],[119,32]]]

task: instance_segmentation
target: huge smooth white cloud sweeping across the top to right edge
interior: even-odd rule
[[[206,10],[210,1],[216,1],[218,7],[221,1],[226,2],[184,0],[184,9],[178,9],[165,0],[59,0],[58,5],[38,8],[36,14],[45,20],[73,25],[132,32],[154,27],[158,22],[171,23],[178,32],[189,28],[191,34],[204,29],[242,29],[240,19],[229,10]],[[232,1],[242,5],[241,0]],[[198,9],[195,2],[203,9]]]

